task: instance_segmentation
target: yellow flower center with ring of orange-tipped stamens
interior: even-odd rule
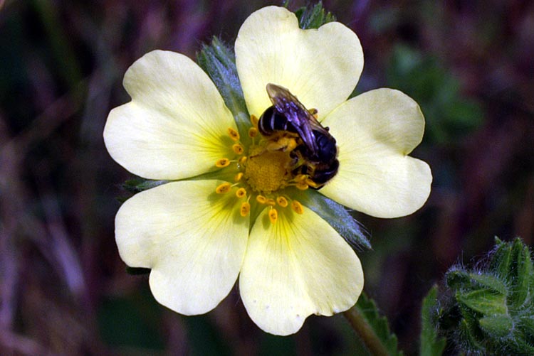
[[[215,192],[233,192],[236,199],[241,200],[239,212],[242,217],[250,214],[251,204],[268,206],[268,217],[273,223],[278,220],[277,207],[288,207],[297,214],[303,214],[303,206],[284,193],[284,188],[290,185],[304,190],[308,189],[310,183],[308,176],[293,173],[297,162],[290,153],[295,149],[295,139],[291,134],[281,134],[259,139],[256,143],[258,119],[252,117],[251,122],[253,127],[248,130],[248,136],[252,144],[248,148],[241,143],[239,133],[235,129],[228,129],[228,134],[234,141],[231,149],[236,158],[220,158],[215,162],[215,166],[236,170],[236,174],[234,183],[222,183]]]

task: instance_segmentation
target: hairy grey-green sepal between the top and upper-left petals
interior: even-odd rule
[[[202,45],[202,49],[197,53],[197,62],[214,82],[226,107],[234,115],[241,142],[248,144],[251,120],[237,75],[234,50],[214,36],[209,45]]]

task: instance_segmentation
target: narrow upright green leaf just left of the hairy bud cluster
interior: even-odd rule
[[[439,356],[443,355],[446,339],[440,337],[436,330],[439,305],[437,301],[438,287],[433,286],[423,299],[421,308],[421,338],[419,355]]]

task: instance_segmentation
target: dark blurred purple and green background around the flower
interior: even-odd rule
[[[194,58],[213,35],[233,43],[268,4],[280,3],[0,0],[1,355],[365,355],[342,315],[263,333],[236,288],[206,315],[173,313],[117,254],[132,177],[102,131],[129,101],[125,70],[156,48]],[[412,156],[432,168],[429,201],[401,219],[358,215],[374,247],[359,252],[365,291],[412,354],[421,300],[451,265],[473,264],[496,235],[533,244],[534,3],[324,5],[362,42],[358,92],[402,90],[426,117]]]

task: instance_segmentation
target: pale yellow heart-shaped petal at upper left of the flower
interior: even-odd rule
[[[231,152],[229,109],[206,73],[179,53],[155,50],[126,72],[132,101],[112,109],[104,141],[128,171],[152,179],[181,179],[214,168]]]

